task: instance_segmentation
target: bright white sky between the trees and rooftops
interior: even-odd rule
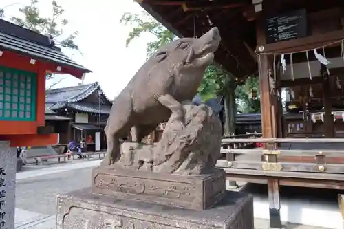
[[[63,49],[74,61],[91,69],[84,83],[98,81],[105,95],[112,99],[129,83],[132,76],[146,60],[146,43],[153,39],[144,34],[126,47],[125,40],[131,30],[130,25],[120,23],[125,12],[137,13],[143,9],[133,0],[56,0],[63,6],[64,17],[69,23],[64,28],[65,36],[78,31],[75,43],[80,52]],[[30,0],[1,0],[6,19],[21,15],[18,9],[28,5]],[[52,12],[51,0],[39,0],[39,9],[44,16]],[[80,80],[69,75],[55,75],[47,80],[47,87],[60,81],[53,88],[78,85]]]

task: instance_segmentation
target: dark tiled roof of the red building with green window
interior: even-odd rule
[[[54,46],[50,38],[14,25],[0,19],[0,47],[14,52],[29,54],[47,61],[59,63],[69,67],[80,69],[83,72],[92,72],[85,67],[78,65],[68,56],[61,52],[61,49]]]

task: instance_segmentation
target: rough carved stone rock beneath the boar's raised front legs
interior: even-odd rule
[[[172,114],[160,142],[155,145],[125,142],[113,167],[155,173],[202,174],[219,159],[222,126],[207,105],[185,105],[183,122]]]

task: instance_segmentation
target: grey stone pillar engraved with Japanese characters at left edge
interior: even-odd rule
[[[17,153],[0,142],[0,228],[14,229]]]

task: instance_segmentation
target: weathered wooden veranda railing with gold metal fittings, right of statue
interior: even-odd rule
[[[264,143],[264,149],[244,149],[248,144]],[[238,173],[288,177],[289,173],[308,173],[305,178],[320,179],[320,174],[344,175],[344,147],[338,149],[279,149],[281,143],[344,143],[341,138],[224,138],[217,162],[219,168]],[[319,144],[319,145],[320,145]],[[310,147],[308,147],[310,148]],[[319,148],[319,149],[318,149]],[[224,160],[224,158],[226,158]],[[288,172],[288,174],[284,174]],[[231,173],[235,173],[232,171]],[[278,173],[278,174],[277,174]],[[341,179],[343,179],[342,177]]]

